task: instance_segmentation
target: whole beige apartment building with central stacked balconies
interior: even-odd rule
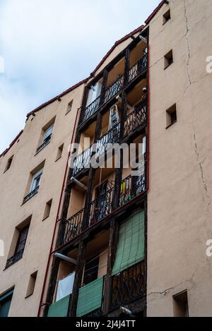
[[[211,28],[210,0],[161,1],[88,79],[28,116],[0,158],[9,315],[211,316]],[[55,142],[34,156],[52,124]],[[70,141],[65,171],[67,149],[60,165],[52,158]],[[134,146],[133,160],[116,145]]]

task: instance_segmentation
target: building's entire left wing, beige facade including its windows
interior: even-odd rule
[[[0,316],[36,316],[84,82],[27,116],[0,157]]]

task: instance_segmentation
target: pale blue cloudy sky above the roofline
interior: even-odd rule
[[[30,110],[89,76],[159,2],[0,0],[0,153]]]

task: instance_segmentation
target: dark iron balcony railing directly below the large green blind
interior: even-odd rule
[[[129,303],[145,294],[144,261],[112,277],[111,309]]]

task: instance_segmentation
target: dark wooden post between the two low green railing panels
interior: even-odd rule
[[[73,284],[73,292],[71,296],[70,306],[69,306],[69,317],[76,316],[76,308],[78,302],[78,291],[81,287],[82,277],[83,277],[83,268],[85,264],[85,253],[86,253],[86,245],[84,241],[81,241],[78,246],[78,259],[76,265],[76,273]]]

